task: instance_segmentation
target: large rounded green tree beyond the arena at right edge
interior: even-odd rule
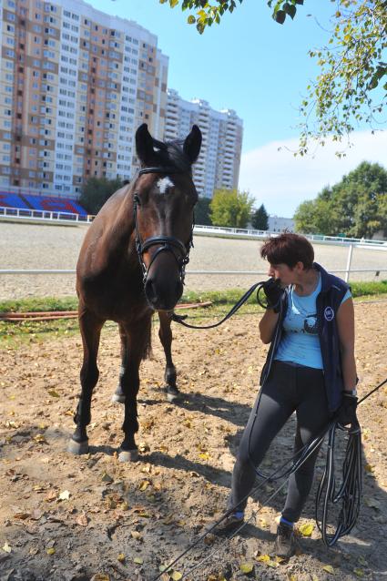
[[[387,232],[387,170],[363,161],[332,188],[300,204],[294,215],[296,229],[311,233],[372,238]]]

